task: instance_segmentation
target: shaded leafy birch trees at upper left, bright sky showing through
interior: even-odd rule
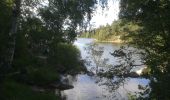
[[[48,0],[1,0],[1,65],[11,66],[15,56],[17,34],[22,33],[34,54],[52,44],[71,43],[76,28],[85,16],[91,18],[95,0],[64,1]],[[32,10],[33,9],[33,10]],[[36,10],[36,11],[35,11]]]

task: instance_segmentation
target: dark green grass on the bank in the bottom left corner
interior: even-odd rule
[[[15,81],[8,80],[2,86],[1,100],[59,100],[52,92],[36,92],[32,87]]]

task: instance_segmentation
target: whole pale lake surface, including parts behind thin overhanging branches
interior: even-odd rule
[[[84,43],[84,39],[81,40]],[[82,42],[78,41],[78,43]],[[70,83],[74,88],[62,93],[66,100],[127,100],[128,94],[130,98],[135,98],[135,92],[144,93],[146,88],[139,86],[143,89],[139,91],[138,84],[147,85],[149,80],[131,78],[128,75],[132,67],[139,64],[136,63],[136,55],[133,57],[135,54],[133,50],[126,50],[124,47],[116,50],[119,45],[91,42],[88,46],[82,44],[78,47],[89,72],[73,77]]]

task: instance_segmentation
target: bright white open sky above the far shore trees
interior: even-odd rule
[[[118,19],[119,14],[119,0],[109,0],[108,9],[102,10],[100,6],[97,6],[97,10],[94,12],[94,15],[91,19],[91,24],[94,25],[94,28],[97,28],[101,25],[112,24],[114,20]]]

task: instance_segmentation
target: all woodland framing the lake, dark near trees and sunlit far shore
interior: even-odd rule
[[[61,100],[55,89],[72,88],[61,76],[87,72],[73,45],[77,27],[91,20],[96,4],[105,8],[107,3],[0,0],[0,100]],[[145,51],[151,91],[137,100],[170,99],[169,12],[169,0],[120,0],[119,20],[81,34],[99,41],[121,39]]]

